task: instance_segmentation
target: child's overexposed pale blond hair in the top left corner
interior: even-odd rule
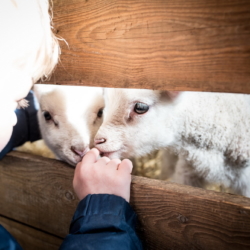
[[[48,0],[4,0],[0,7],[1,82],[37,82],[58,62]]]

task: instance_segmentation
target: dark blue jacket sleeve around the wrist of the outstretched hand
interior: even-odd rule
[[[88,195],[80,201],[60,250],[141,250],[137,216],[116,195]]]

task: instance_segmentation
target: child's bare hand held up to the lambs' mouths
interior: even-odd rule
[[[114,194],[129,202],[132,162],[98,157],[99,151],[93,148],[76,166],[73,187],[78,198],[82,200],[88,194]]]

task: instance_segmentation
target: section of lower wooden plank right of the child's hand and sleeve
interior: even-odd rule
[[[136,177],[132,198],[145,249],[250,248],[250,199]]]

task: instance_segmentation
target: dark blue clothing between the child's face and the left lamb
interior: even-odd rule
[[[29,106],[16,110],[17,124],[13,128],[8,144],[0,152],[0,160],[13,148],[27,141],[33,142],[41,139],[33,92],[30,91],[25,99],[29,101]]]

